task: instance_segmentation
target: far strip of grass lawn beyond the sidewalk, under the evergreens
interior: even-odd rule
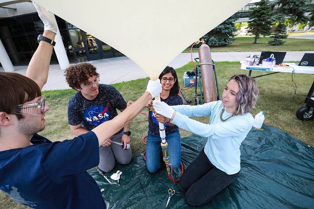
[[[238,37],[228,46],[211,46],[211,52],[236,52],[236,51],[312,51],[314,50],[314,40],[311,39],[285,39],[281,46],[268,44],[270,38],[257,39],[254,44],[254,37]],[[183,52],[191,52],[188,47]],[[193,48],[193,52],[198,52],[198,48]]]

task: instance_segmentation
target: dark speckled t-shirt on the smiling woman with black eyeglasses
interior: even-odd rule
[[[154,98],[155,99],[155,98]],[[153,99],[153,100],[154,100]],[[166,104],[173,106],[173,105],[182,105],[183,100],[179,95],[175,96],[169,96],[166,99],[162,99],[160,97],[161,102],[165,102]],[[153,116],[153,111],[149,111],[149,117],[148,117],[148,129],[151,131],[153,134],[159,136],[159,125],[158,121],[156,120],[156,117]],[[179,130],[179,127],[174,125],[174,126],[168,126],[167,123],[164,124],[165,126],[165,132],[167,133],[173,133]]]

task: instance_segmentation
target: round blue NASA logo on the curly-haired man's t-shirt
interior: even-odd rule
[[[108,105],[109,103],[107,103],[107,107],[103,107],[101,105],[89,107],[84,112],[84,120],[92,126],[98,126],[101,123],[110,120]]]

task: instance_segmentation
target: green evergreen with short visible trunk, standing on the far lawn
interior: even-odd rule
[[[261,35],[269,35],[271,33],[271,16],[272,8],[268,0],[262,0],[255,3],[256,7],[250,9],[248,13],[251,22],[248,23],[247,33],[252,33],[255,36],[254,44]]]

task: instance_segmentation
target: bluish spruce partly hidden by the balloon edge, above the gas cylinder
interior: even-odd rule
[[[237,31],[234,22],[238,19],[239,15],[232,15],[216,28],[209,31],[201,39],[205,39],[206,44],[209,46],[226,46],[232,44],[235,40],[235,32]],[[197,45],[197,47],[199,46],[200,44]]]

